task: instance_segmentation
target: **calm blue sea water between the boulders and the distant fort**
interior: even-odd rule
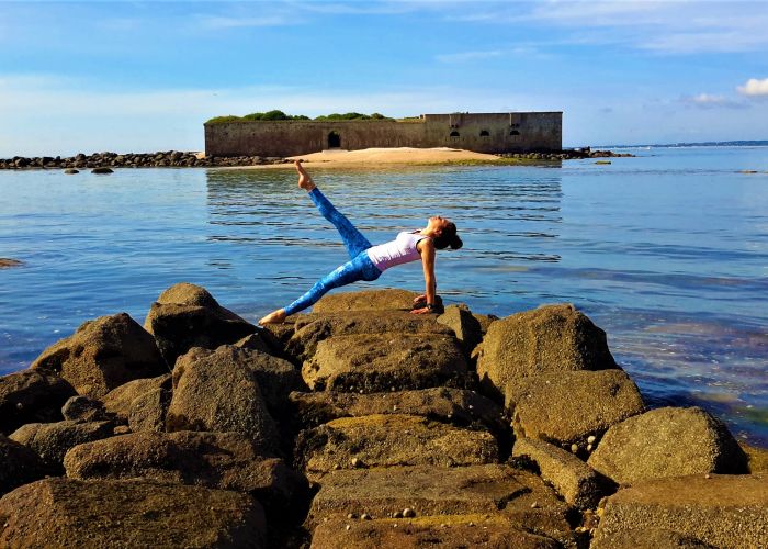
[[[700,405],[768,447],[768,148],[632,149],[608,166],[313,175],[376,244],[426,219],[447,302],[505,316],[571,302],[654,406]],[[757,173],[743,173],[756,170]],[[95,316],[139,323],[179,281],[256,322],[346,260],[289,170],[0,171],[0,373]],[[420,266],[353,287],[422,289]]]

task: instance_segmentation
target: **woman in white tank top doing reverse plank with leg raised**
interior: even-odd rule
[[[281,323],[290,314],[314,305],[324,294],[334,288],[351,284],[358,280],[376,280],[391,267],[409,261],[421,260],[426,293],[414,300],[415,305],[423,305],[411,311],[414,314],[429,313],[434,309],[437,283],[434,280],[434,250],[462,247],[456,235],[456,226],[444,217],[430,217],[427,226],[413,233],[404,232],[386,244],[372,246],[370,242],[326,199],[315,186],[309,175],[302,167],[301,160],[294,163],[298,171],[298,187],[306,190],[323,216],[339,231],[341,239],[351,258],[335,271],[326,274],[312,289],[284,309],[279,309],[259,321],[259,324]]]

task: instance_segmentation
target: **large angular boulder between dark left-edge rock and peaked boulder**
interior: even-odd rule
[[[126,313],[83,323],[31,368],[56,373],[79,394],[95,399],[131,380],[168,372],[153,336]]]

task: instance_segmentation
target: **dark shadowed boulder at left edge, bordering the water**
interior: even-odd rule
[[[0,378],[0,434],[27,423],[61,419],[61,406],[75,389],[58,376],[24,370]]]

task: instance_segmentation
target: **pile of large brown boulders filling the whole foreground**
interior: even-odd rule
[[[768,452],[648,410],[572,305],[414,296],[258,328],[180,283],[84,323],[0,378],[0,546],[768,546]]]

